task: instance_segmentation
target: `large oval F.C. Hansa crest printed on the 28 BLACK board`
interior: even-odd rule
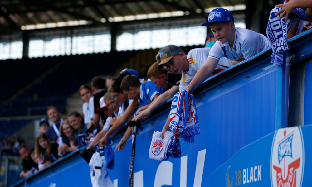
[[[304,142],[300,127],[275,132],[271,149],[271,186],[301,187],[304,171]]]

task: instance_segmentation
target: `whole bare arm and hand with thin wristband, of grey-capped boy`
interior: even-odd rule
[[[168,99],[172,98],[174,96],[175,93],[177,93],[179,91],[179,86],[173,86],[170,89],[168,89],[167,91],[165,91],[163,94],[159,95],[156,99],[153,100],[152,103],[149,104],[148,108],[146,108],[145,110],[141,111],[137,117],[135,118],[135,120],[143,120],[147,117],[149,117],[149,115],[159,106],[163,105]]]

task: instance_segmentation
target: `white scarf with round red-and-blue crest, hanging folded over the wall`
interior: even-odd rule
[[[149,148],[149,158],[165,161],[168,160],[171,150],[175,144],[175,138],[171,131],[165,132],[165,137],[162,139],[162,134],[159,131],[154,131],[151,146]]]

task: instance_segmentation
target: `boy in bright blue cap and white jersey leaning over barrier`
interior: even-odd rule
[[[220,58],[226,57],[235,65],[271,46],[270,41],[264,35],[234,27],[234,17],[224,8],[213,9],[209,14],[208,22],[203,23],[202,26],[210,26],[218,41],[212,46],[206,63],[185,88],[188,93],[193,92],[212,74]]]

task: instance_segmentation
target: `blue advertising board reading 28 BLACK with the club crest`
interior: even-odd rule
[[[311,186],[312,125],[282,128],[240,149],[210,186]]]

